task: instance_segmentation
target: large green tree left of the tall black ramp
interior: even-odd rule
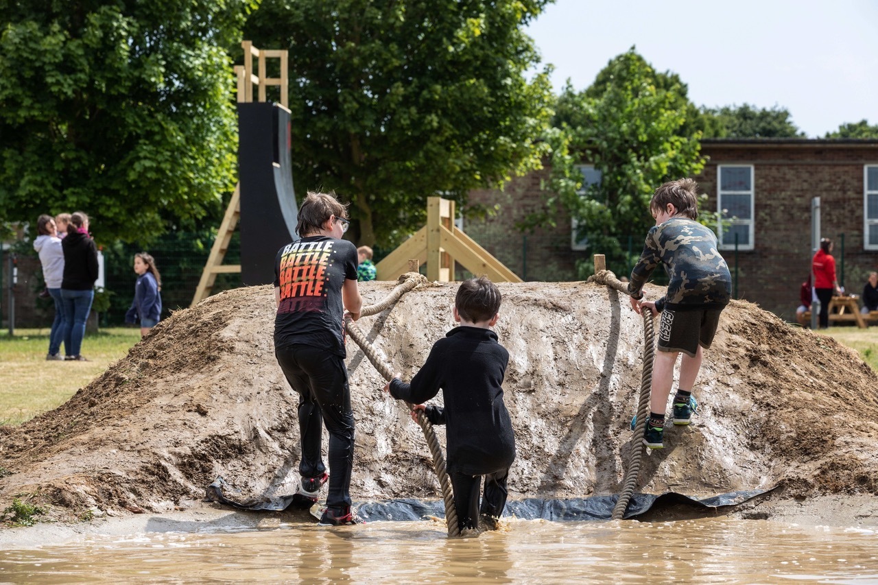
[[[83,210],[98,242],[221,214],[253,0],[0,0],[0,221]]]

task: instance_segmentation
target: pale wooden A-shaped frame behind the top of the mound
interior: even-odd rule
[[[396,280],[411,270],[409,260],[416,259],[419,266],[427,264],[427,279],[431,281],[453,281],[457,262],[473,274],[485,274],[493,282],[522,282],[515,272],[457,229],[454,217],[454,201],[428,197],[427,225],[375,265],[378,280]]]

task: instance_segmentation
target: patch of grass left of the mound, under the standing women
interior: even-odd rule
[[[48,329],[0,334],[0,424],[24,423],[63,404],[140,341],[140,328],[101,329],[83,340],[83,355],[90,361],[48,362],[48,334]]]

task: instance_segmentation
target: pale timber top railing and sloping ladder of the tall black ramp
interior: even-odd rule
[[[258,98],[256,101],[264,102],[268,94],[268,86],[277,85],[280,86],[280,103],[289,109],[288,52],[284,49],[258,49],[253,46],[253,41],[250,40],[241,42],[241,47],[244,49],[244,64],[234,66],[234,74],[238,79],[238,103],[249,104],[253,101],[254,85],[256,86],[256,97]],[[254,57],[256,58],[258,75],[253,73]],[[266,59],[272,58],[280,60],[279,77],[269,77],[266,75]],[[234,186],[232,199],[228,202],[226,213],[223,216],[222,223],[219,225],[217,239],[214,240],[211,253],[207,256],[207,264],[205,264],[205,270],[201,272],[201,279],[198,281],[198,288],[195,289],[195,296],[192,297],[191,307],[194,307],[198,302],[210,296],[217,274],[241,274],[241,264],[222,264],[234,230],[238,227],[239,219],[241,219],[240,183]]]

